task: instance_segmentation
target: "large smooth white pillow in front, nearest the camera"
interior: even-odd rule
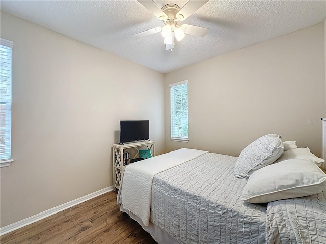
[[[303,197],[326,190],[326,174],[304,159],[289,159],[254,172],[244,186],[242,200],[251,203]]]

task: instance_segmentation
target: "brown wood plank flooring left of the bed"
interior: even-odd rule
[[[0,237],[1,244],[139,243],[155,240],[117,206],[108,192]]]

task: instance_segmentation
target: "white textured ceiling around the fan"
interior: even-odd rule
[[[150,1],[150,0],[149,0]],[[154,0],[162,7],[186,0]],[[186,35],[166,51],[160,33],[132,35],[163,26],[137,1],[3,1],[1,10],[114,53],[162,73],[297,31],[326,18],[326,1],[210,0],[182,23],[209,28],[204,38]]]

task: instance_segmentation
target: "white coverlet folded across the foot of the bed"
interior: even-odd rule
[[[207,151],[182,148],[128,165],[119,189],[118,203],[122,203],[125,209],[133,212],[148,226],[154,175],[205,153]]]

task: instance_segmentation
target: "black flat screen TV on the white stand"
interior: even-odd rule
[[[120,143],[149,140],[149,120],[120,120]]]

